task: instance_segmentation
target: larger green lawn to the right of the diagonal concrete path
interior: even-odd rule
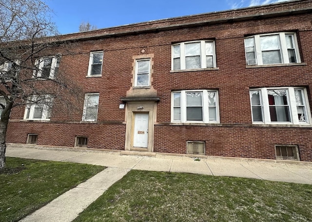
[[[75,222],[311,222],[312,185],[131,170]]]

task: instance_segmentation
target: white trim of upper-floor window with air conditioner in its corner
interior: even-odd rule
[[[292,35],[293,37],[293,46],[294,46],[294,51],[295,51],[295,56],[296,56],[296,62],[292,64],[301,63],[296,33],[282,32],[282,33],[269,33],[269,34],[254,35],[254,36],[245,38],[245,39],[254,38],[254,53],[255,53],[255,59],[256,59],[255,65],[258,65],[258,66],[273,65],[273,64],[263,64],[260,37],[274,36],[274,35],[279,36],[279,47],[280,47],[280,53],[281,53],[281,63],[276,63],[276,64],[290,64],[288,51],[287,51],[287,45],[286,45],[286,38],[285,38],[286,35]],[[246,58],[246,64],[248,65],[246,50],[245,50],[245,58]]]

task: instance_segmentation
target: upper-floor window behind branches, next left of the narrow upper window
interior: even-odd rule
[[[45,57],[36,59],[37,67],[33,72],[33,78],[54,78],[59,72],[59,57]]]

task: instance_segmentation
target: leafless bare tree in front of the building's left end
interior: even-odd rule
[[[26,105],[27,116],[37,104],[35,114],[48,116],[56,102],[68,106],[71,94],[78,97],[78,88],[59,71],[59,58],[69,43],[58,39],[50,13],[41,0],[0,1],[0,170],[13,108]]]

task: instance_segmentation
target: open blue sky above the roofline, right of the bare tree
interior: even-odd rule
[[[81,22],[108,28],[143,21],[223,11],[285,0],[47,0],[60,34]]]

